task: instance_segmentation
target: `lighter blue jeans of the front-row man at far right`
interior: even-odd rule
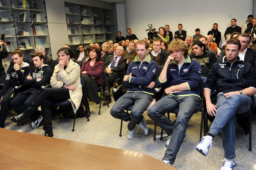
[[[209,133],[216,136],[222,130],[224,157],[235,159],[236,114],[246,113],[252,105],[252,98],[247,95],[233,94],[226,98],[223,93],[217,95],[217,112]]]

